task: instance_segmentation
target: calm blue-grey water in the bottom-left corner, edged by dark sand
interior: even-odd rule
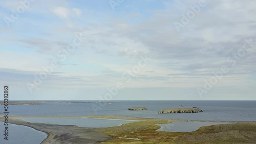
[[[10,144],[20,144],[20,143],[27,143],[27,144],[35,144],[41,143],[47,137],[47,134],[44,132],[37,131],[30,127],[26,126],[19,126],[8,124],[8,140],[4,139],[4,123],[0,122],[1,127],[1,136],[0,136],[0,143],[10,143]]]

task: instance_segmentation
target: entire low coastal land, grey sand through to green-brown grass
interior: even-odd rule
[[[122,124],[120,126],[106,128],[84,128],[72,125],[54,125],[42,123],[28,123],[22,119],[11,116],[9,123],[23,125],[37,131],[47,133],[47,138],[41,143],[130,143],[140,139],[143,143],[208,143],[229,142],[251,143],[256,140],[256,122],[237,122],[236,124],[221,124],[200,127],[193,132],[166,132],[157,131],[160,126],[157,124],[169,124],[172,122],[227,122],[227,121],[190,121],[178,119],[143,118],[118,115],[98,115],[98,116],[44,116],[44,117],[80,117],[80,118],[100,118],[100,119],[123,119],[134,120],[135,122]],[[38,116],[29,116],[38,117]],[[39,116],[41,117],[41,116]],[[3,118],[0,117],[3,122]],[[238,143],[239,143],[238,142]]]

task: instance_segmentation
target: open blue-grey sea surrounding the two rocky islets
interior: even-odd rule
[[[200,113],[159,114],[159,110],[198,107]],[[97,110],[93,109],[95,107]],[[128,111],[129,107],[148,110]],[[100,107],[99,103],[54,103],[40,105],[10,105],[10,115],[127,115],[153,118],[189,119],[202,121],[256,121],[256,101],[113,101]]]

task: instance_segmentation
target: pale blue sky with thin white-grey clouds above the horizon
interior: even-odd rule
[[[0,85],[9,100],[256,100],[255,15],[253,0],[0,1]]]

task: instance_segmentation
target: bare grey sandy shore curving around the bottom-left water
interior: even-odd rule
[[[4,119],[1,117],[0,121],[3,122]],[[41,143],[99,143],[111,139],[111,136],[99,132],[101,128],[27,123],[15,118],[9,118],[9,123],[28,126],[47,133],[48,137]]]

